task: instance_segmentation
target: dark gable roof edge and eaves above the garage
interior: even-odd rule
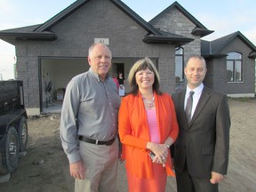
[[[66,9],[53,16],[50,20],[47,20],[41,25],[29,26],[27,28],[14,28],[9,30],[0,31],[0,38],[6,40],[12,38],[14,40],[50,40],[53,41],[57,36],[51,31],[51,28],[57,25],[61,20],[64,20],[68,15],[76,12],[84,4],[92,0],[79,0],[73,4],[70,4]],[[143,20],[136,12],[133,12],[126,4],[121,0],[108,0],[116,5],[120,10],[127,14],[132,20],[137,22],[141,28],[144,28],[148,34],[143,41],[147,44],[177,44],[177,46],[188,44],[194,39],[185,36],[176,36],[174,34],[168,34],[164,36],[159,30],[150,25],[146,20]],[[8,37],[8,38],[6,38]],[[8,42],[8,41],[7,41]],[[10,43],[10,41],[9,41]]]

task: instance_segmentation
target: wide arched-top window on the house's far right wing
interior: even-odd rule
[[[242,54],[229,52],[227,56],[227,82],[242,82]]]

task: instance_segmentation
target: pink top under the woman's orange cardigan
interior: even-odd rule
[[[156,120],[156,109],[147,109],[146,112],[151,142],[160,143],[159,127]]]

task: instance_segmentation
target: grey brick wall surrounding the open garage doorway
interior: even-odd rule
[[[113,58],[157,59],[162,91],[171,93],[175,89],[174,46],[143,43],[148,32],[110,1],[90,1],[51,30],[58,36],[55,41],[16,43],[18,78],[24,82],[26,107],[33,112],[40,108],[38,58],[84,58],[94,38],[109,39]]]

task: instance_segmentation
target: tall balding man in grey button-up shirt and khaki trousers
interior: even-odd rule
[[[117,117],[120,99],[108,71],[112,54],[92,44],[91,68],[68,83],[60,119],[60,139],[68,156],[75,191],[116,191]]]

